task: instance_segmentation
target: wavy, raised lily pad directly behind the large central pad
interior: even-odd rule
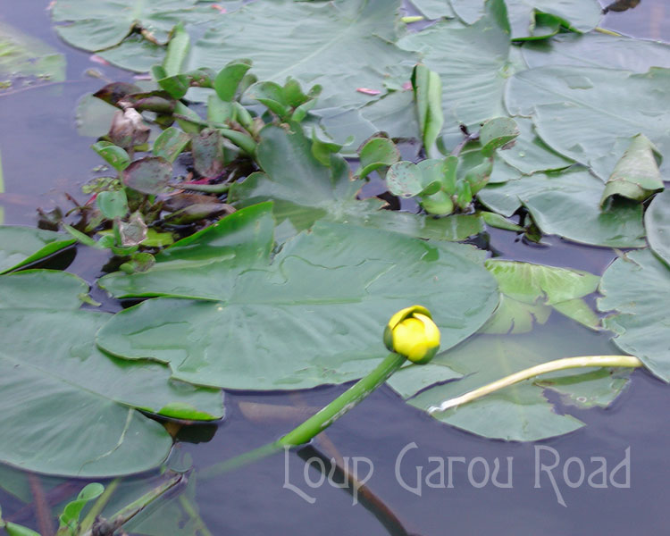
[[[350,180],[348,163],[333,155],[331,166],[312,155],[312,141],[295,126],[267,126],[256,151],[264,173],[255,173],[230,188],[229,199],[247,206],[274,202],[280,226],[277,240],[309,229],[317,220],[395,230],[424,239],[462,240],[483,230],[477,216],[432,219],[417,214],[381,210],[379,199],[356,199],[363,180]]]

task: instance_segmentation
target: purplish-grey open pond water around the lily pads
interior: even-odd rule
[[[36,207],[67,205],[63,192],[81,197],[80,185],[100,161],[88,148],[92,138],[78,134],[73,114],[80,97],[104,83],[86,71],[103,71],[109,80],[130,78],[125,71],[91,63],[89,54],[65,46],[51,29],[46,4],[7,3],[0,13],[0,20],[42,38],[66,54],[68,65],[66,83],[0,96],[5,187],[0,206],[7,224],[35,224]],[[603,26],[641,38],[667,40],[670,7],[666,0],[642,0],[628,12],[607,14]],[[482,243],[501,258],[598,274],[616,258],[611,249],[577,246],[552,237],[545,240],[545,246],[532,245],[503,230],[489,230]],[[104,264],[105,255],[78,252],[66,259],[71,263],[67,269],[93,283],[100,275],[99,266]],[[95,290],[93,296],[103,297]],[[105,301],[105,306],[110,311],[121,307],[110,300]],[[618,353],[607,334],[577,333],[582,329],[557,314],[543,330],[536,336],[546,337],[548,345],[551,340],[563,341],[565,346],[559,349],[565,355],[570,355],[570,348],[577,344],[573,343],[575,339],[582,341],[579,344],[588,339],[594,352],[607,353],[609,348],[609,353]],[[264,415],[263,405],[318,407],[344,389],[340,386],[297,393],[230,394],[228,416],[221,425],[180,431],[172,458],[180,463],[180,458],[190,457],[193,465],[202,470],[189,482],[186,495],[197,504],[211,533],[559,536],[668,532],[670,509],[666,507],[665,493],[670,479],[666,459],[670,428],[664,415],[670,405],[670,389],[640,371],[633,373],[628,388],[607,409],[562,406],[563,411],[577,416],[586,426],[554,440],[485,440],[435,421],[384,387],[335,423],[327,438],[316,441],[314,447],[270,456],[225,475],[208,477],[206,468],[210,465],[264,445],[297,423],[290,413],[286,418]],[[556,394],[547,396],[560,404]],[[256,412],[250,416],[252,409]],[[314,466],[306,470],[304,460],[317,454],[330,458],[334,451],[342,456],[359,456],[359,477],[370,474],[366,485],[376,499],[359,498],[354,504],[350,490],[338,489],[327,481],[315,485],[322,480],[315,469],[318,462],[313,460]],[[611,475],[606,486],[595,485],[599,478],[575,485],[580,464],[588,479],[600,467],[602,458],[609,475],[625,456],[630,456],[629,475],[624,467]],[[426,474],[437,466],[436,459],[444,462],[443,487],[435,485],[439,482],[437,475],[430,480],[433,487],[425,482]],[[555,461],[558,465],[552,472],[538,471],[538,463],[553,465]],[[499,485],[486,474],[487,469],[493,473],[496,463],[500,465]],[[423,466],[419,479],[417,466]],[[125,479],[121,489],[128,493],[148,489],[156,477],[151,473]],[[46,490],[55,487],[54,503],[60,502],[57,486],[63,486],[63,481],[44,477],[41,481]],[[29,497],[21,474],[14,470],[0,467],[0,485],[20,497]],[[64,493],[60,499],[67,497]],[[177,533],[172,532],[174,525],[170,523],[179,499],[172,500],[174,504],[168,502],[160,515],[138,522],[145,523],[135,525],[138,532]],[[6,490],[0,490],[0,504],[6,519],[38,527],[34,509],[26,508]],[[132,529],[130,525],[131,532]]]

